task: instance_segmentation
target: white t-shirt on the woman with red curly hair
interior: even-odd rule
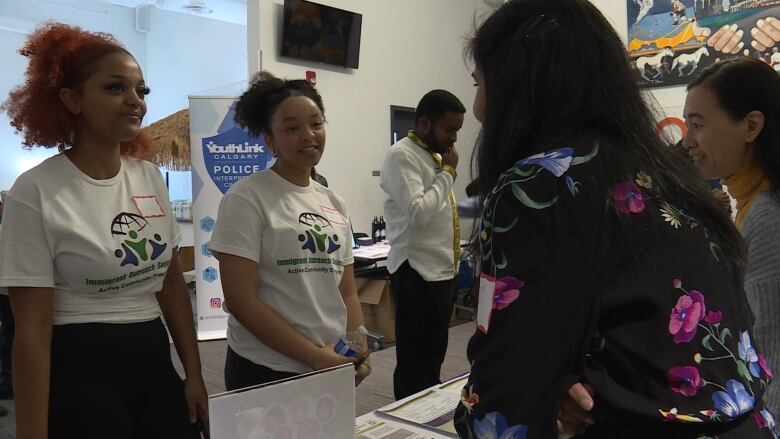
[[[0,286],[54,288],[55,325],[152,320],[179,240],[156,166],[122,157],[95,180],[58,154],[5,198]]]

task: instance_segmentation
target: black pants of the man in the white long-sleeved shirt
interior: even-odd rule
[[[393,391],[405,398],[441,382],[455,281],[428,282],[404,262],[390,275],[395,300]]]

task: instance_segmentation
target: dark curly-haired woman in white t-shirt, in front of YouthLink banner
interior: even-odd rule
[[[308,82],[267,72],[236,105],[236,121],[263,135],[276,162],[230,188],[209,241],[230,312],[228,390],[355,361],[334,351],[363,324],[349,215],[311,178],[325,150],[324,113]],[[360,365],[356,382],[369,372]]]

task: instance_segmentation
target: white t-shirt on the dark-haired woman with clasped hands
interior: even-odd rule
[[[258,264],[257,297],[317,346],[346,332],[339,292],[352,246],[344,201],[311,182],[296,186],[273,170],[253,174],[222,198],[209,249]],[[229,311],[229,309],[228,309]],[[264,345],[234,316],[228,345],[240,356],[283,372],[310,372],[306,364]]]

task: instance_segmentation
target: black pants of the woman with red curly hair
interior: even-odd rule
[[[160,319],[54,326],[49,437],[199,437]]]

